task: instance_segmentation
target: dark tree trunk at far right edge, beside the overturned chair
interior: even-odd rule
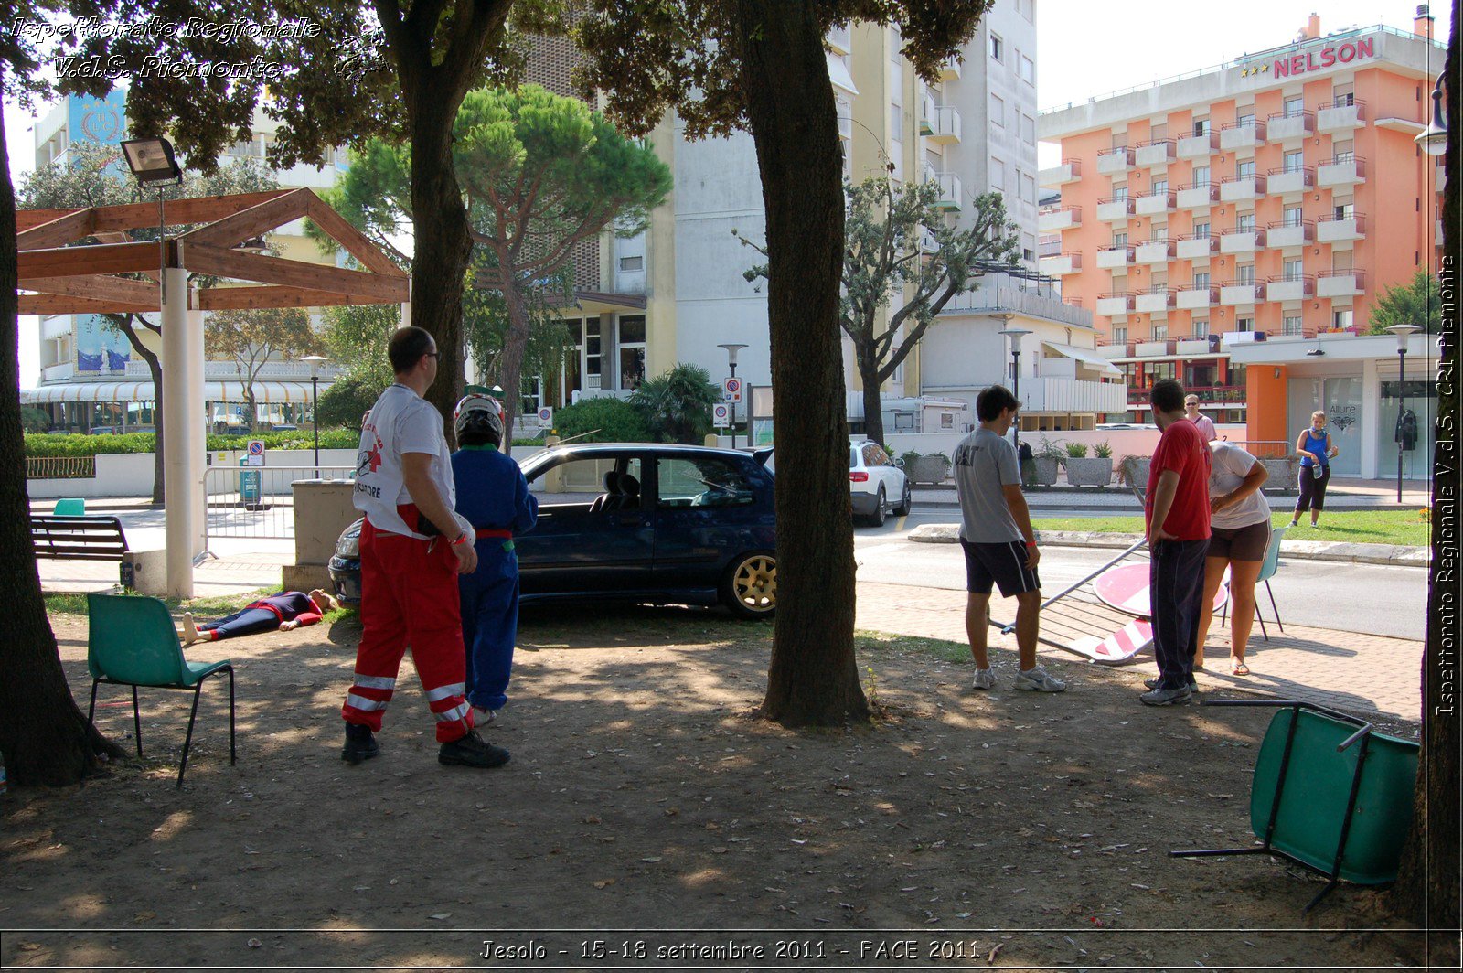
[[[1453,4],[1453,37],[1444,76],[1459,76],[1459,32],[1463,12]],[[1428,632],[1422,653],[1422,751],[1413,792],[1412,833],[1403,847],[1397,884],[1388,906],[1403,919],[1434,929],[1428,936],[1428,969],[1459,963],[1459,733],[1457,632],[1463,590],[1459,582],[1459,499],[1463,496],[1463,451],[1459,449],[1459,85],[1445,89],[1448,126],[1447,176],[1443,196],[1441,335],[1438,339],[1438,426],[1432,448],[1432,566],[1428,584]],[[1453,929],[1453,932],[1445,932]]]

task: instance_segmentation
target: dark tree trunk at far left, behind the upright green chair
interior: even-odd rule
[[[0,126],[0,755],[12,784],[73,784],[97,767],[98,752],[121,749],[91,730],[72,699],[31,547],[9,158]]]

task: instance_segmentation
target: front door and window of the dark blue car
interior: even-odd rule
[[[534,470],[538,522],[515,540],[524,594],[639,590],[650,582],[654,511],[645,499],[595,503],[604,474],[644,481],[638,452],[569,455]]]

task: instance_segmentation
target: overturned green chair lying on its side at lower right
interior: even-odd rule
[[[1214,699],[1213,707],[1282,707],[1255,758],[1249,828],[1261,844],[1169,852],[1173,857],[1280,854],[1327,876],[1302,912],[1340,879],[1381,885],[1397,878],[1412,827],[1418,743],[1371,723],[1295,699]]]

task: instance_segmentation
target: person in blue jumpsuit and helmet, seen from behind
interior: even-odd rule
[[[508,702],[508,679],[518,638],[518,555],[514,534],[538,521],[538,499],[522,471],[499,452],[503,420],[499,404],[468,395],[452,416],[458,451],[452,454],[456,512],[477,531],[477,571],[458,575],[462,596],[462,644],[467,651],[467,701],[477,726],[497,717]]]

